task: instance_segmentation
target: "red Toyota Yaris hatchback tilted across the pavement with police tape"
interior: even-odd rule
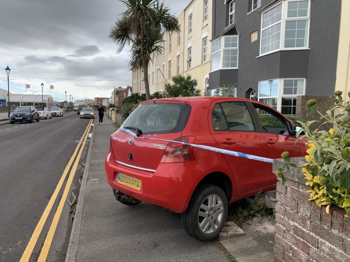
[[[276,188],[266,159],[285,151],[306,155],[307,146],[296,140],[295,125],[257,101],[148,100],[111,136],[107,181],[121,203],[144,201],[182,213],[186,232],[210,241],[224,226],[228,204]]]

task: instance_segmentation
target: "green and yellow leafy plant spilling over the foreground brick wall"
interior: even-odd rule
[[[305,156],[306,165],[302,168],[307,182],[306,185],[312,189],[307,190],[310,193],[310,199],[316,204],[326,206],[326,212],[329,213],[331,205],[342,207],[346,211],[344,221],[350,222],[350,102],[346,102],[341,97],[342,91],[334,92],[334,105],[332,105],[326,114],[317,110],[317,102],[312,99],[307,102],[307,115],[318,113],[323,123],[331,123],[335,128],[326,130],[311,130],[310,124],[315,122],[308,121],[301,124],[297,132],[297,137],[304,133],[298,140],[306,138],[308,146]],[[347,93],[350,97],[350,92]],[[286,168],[279,168],[276,175],[282,178],[282,184],[286,182],[284,172],[297,166],[291,162],[289,154],[282,154]],[[349,219],[347,219],[347,217]]]

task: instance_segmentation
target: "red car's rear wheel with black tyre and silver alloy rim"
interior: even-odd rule
[[[227,214],[228,202],[224,191],[218,186],[203,184],[195,190],[181,217],[185,231],[193,238],[206,242],[220,233]]]

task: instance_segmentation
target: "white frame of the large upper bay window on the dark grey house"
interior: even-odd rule
[[[294,17],[294,18],[287,18],[288,14],[288,3],[291,2],[301,2],[301,1],[308,1],[309,6],[308,6],[308,16],[307,17]],[[270,25],[264,29],[262,29],[262,17],[264,16],[265,13],[269,12],[270,10],[274,9],[275,7],[282,5],[282,17],[281,21],[278,23],[281,23],[281,38],[280,38],[280,48],[266,52],[264,54],[261,54],[261,40],[262,40],[262,31],[267,30],[268,28],[271,28],[278,23],[275,23],[273,25]],[[286,22],[287,21],[298,21],[298,20],[308,20],[308,35],[307,35],[307,45],[306,47],[291,47],[291,48],[286,48],[285,47],[285,33],[286,33]],[[264,56],[264,55],[269,55],[281,50],[305,50],[305,49],[310,49],[309,48],[309,40],[310,40],[310,20],[311,20],[311,0],[285,0],[285,1],[280,1],[276,3],[275,5],[271,6],[269,9],[265,10],[264,12],[261,13],[261,19],[260,19],[260,44],[259,44],[259,56]]]

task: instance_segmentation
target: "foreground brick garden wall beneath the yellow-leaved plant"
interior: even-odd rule
[[[282,166],[283,160],[274,160],[274,171]],[[308,201],[306,190],[311,187],[305,185],[300,170],[285,176],[286,186],[277,184],[274,261],[350,261],[350,223],[343,222],[345,211],[334,206],[327,214],[325,206]]]

